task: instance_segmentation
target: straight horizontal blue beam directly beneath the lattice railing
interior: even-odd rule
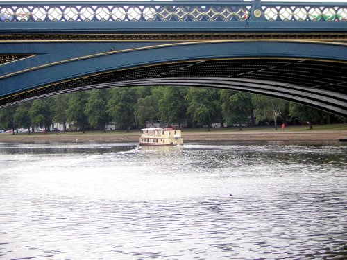
[[[0,23],[3,33],[235,33],[235,32],[345,32],[346,22],[244,21],[227,22],[126,22],[117,23]]]

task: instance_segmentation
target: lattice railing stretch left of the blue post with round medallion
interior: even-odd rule
[[[65,3],[1,6],[0,21],[246,21],[251,13],[249,3],[239,5],[134,5],[120,6],[90,3]]]

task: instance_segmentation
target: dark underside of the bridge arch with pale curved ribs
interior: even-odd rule
[[[169,62],[95,73],[0,100],[0,106],[83,89],[199,86],[265,94],[347,115],[347,64],[295,58],[232,58]]]

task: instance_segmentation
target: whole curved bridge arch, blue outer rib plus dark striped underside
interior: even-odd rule
[[[83,48],[84,44],[65,44]],[[105,44],[104,44],[105,45]],[[108,44],[110,45],[110,44]],[[47,44],[46,51],[55,44]],[[42,46],[40,47],[42,50]],[[347,115],[344,44],[314,40],[209,40],[112,49],[1,76],[1,105],[81,89],[136,85],[219,87],[276,96]],[[15,66],[16,62],[13,62]],[[40,64],[37,61],[37,64]],[[28,80],[30,79],[30,80]],[[11,93],[11,86],[21,84]]]

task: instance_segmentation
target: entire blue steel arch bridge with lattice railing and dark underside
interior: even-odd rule
[[[235,89],[347,117],[347,4],[0,3],[0,107],[144,85]]]

